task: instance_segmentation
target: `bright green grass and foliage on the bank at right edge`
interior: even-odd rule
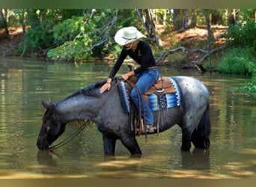
[[[227,34],[234,49],[228,51],[218,69],[225,73],[252,75],[252,81],[237,90],[256,96],[256,24],[255,9],[240,10],[238,22]],[[241,47],[243,46],[243,48]]]

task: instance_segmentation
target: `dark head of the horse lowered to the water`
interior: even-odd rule
[[[40,150],[48,150],[49,145],[64,132],[65,124],[61,123],[53,102],[42,103],[46,111],[43,115],[43,124],[37,138],[37,147]]]

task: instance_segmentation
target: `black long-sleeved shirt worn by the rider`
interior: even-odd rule
[[[132,49],[127,50],[125,49],[125,46],[123,47],[118,57],[118,61],[116,61],[114,67],[109,73],[109,78],[113,79],[115,77],[115,74],[118,73],[118,70],[123,64],[124,59],[127,58],[128,55],[135,62],[140,64],[140,67],[134,70],[135,74],[147,71],[148,70],[147,67],[156,66],[156,61],[155,61],[155,58],[153,58],[150,45],[147,42],[140,40],[134,52],[132,51]]]

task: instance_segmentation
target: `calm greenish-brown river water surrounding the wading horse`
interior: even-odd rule
[[[159,135],[138,137],[142,150],[134,158],[118,141],[115,156],[105,157],[100,132],[90,124],[73,141],[54,152],[37,150],[44,108],[73,91],[106,79],[112,65],[61,64],[16,58],[0,59],[0,178],[256,178],[256,101],[234,88],[246,76],[172,70],[162,76],[194,76],[210,91],[210,150],[180,152],[178,126]],[[128,67],[123,67],[124,73]],[[118,74],[120,76],[121,74]],[[67,126],[60,139],[76,131]]]

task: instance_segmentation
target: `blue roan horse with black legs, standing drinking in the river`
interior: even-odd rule
[[[162,109],[159,132],[177,124],[182,129],[181,150],[189,151],[191,142],[196,148],[208,149],[210,107],[207,88],[198,79],[191,77],[175,76],[172,79],[180,88],[182,105]],[[46,112],[37,138],[37,147],[40,150],[48,150],[49,145],[64,132],[70,121],[91,120],[103,134],[106,155],[115,154],[117,140],[120,140],[132,155],[141,154],[135,133],[130,133],[129,114],[124,112],[120,91],[115,87],[116,82],[112,82],[111,91],[100,94],[99,90],[104,83],[97,82],[76,91],[57,104],[43,102]],[[153,111],[153,114],[154,119],[159,117],[157,111]]]

